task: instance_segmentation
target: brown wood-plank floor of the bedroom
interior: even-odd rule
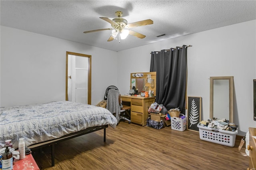
[[[41,170],[246,170],[247,156],[234,147],[200,140],[199,132],[154,129],[120,122],[106,129],[66,140],[32,155]],[[245,149],[242,148],[242,149]]]

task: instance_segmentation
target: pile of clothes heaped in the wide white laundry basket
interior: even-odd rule
[[[230,123],[226,119],[208,119],[207,121],[201,121],[199,126],[208,127],[208,128],[216,128],[220,130],[228,130],[228,131],[236,131],[238,128],[238,125],[235,125],[234,123]]]

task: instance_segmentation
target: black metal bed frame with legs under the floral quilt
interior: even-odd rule
[[[104,129],[104,142],[106,142],[106,128],[108,128],[108,125],[86,128],[86,129],[80,130],[78,132],[66,134],[66,135],[64,135],[60,138],[57,138],[57,139],[48,140],[46,142],[40,142],[40,143],[37,143],[37,144],[32,144],[32,145],[28,146],[28,148],[30,148],[30,150],[35,150],[35,149],[38,149],[38,148],[42,148],[44,146],[51,146],[52,147],[52,166],[54,166],[54,154],[55,154],[54,145],[55,144],[57,144],[58,142],[64,141],[64,140],[68,140],[68,139],[71,139],[71,138],[82,136],[84,134],[96,132],[96,131],[102,130],[102,129]]]

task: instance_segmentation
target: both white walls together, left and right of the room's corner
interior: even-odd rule
[[[1,106],[65,100],[66,51],[92,55],[92,105],[106,88],[130,89],[130,73],[148,72],[150,52],[188,47],[188,96],[202,97],[209,118],[211,76],[234,76],[234,123],[244,135],[253,121],[256,20],[164,40],[118,53],[1,26]],[[136,64],[134,63],[136,62]],[[115,65],[117,67],[108,67]]]

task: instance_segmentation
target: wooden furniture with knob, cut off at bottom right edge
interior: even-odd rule
[[[256,139],[252,136],[256,136],[256,128],[249,128],[249,145],[246,147],[250,151],[250,168],[247,170],[255,170],[256,168]]]

